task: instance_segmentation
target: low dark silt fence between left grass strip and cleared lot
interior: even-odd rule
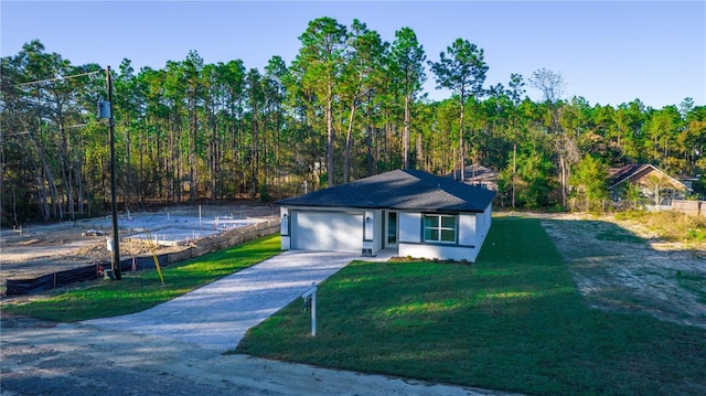
[[[253,240],[266,235],[279,232],[279,218],[252,224],[245,227],[231,228],[222,234],[207,236],[194,242],[194,245],[185,250],[158,255],[160,266],[168,266],[193,257],[225,249],[231,246]],[[109,264],[93,264],[85,267],[67,269],[64,271],[47,274],[32,279],[8,279],[6,281],[6,295],[29,295],[42,290],[55,289],[71,283],[95,280],[103,276],[103,267]],[[120,271],[129,272],[140,269],[154,268],[152,256],[130,257],[120,260]]]

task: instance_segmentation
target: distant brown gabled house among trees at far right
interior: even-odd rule
[[[659,202],[660,205],[668,205],[672,200],[683,199],[691,190],[684,183],[649,163],[609,170],[608,191],[613,201],[624,197],[628,184],[638,185],[642,196],[653,200],[655,204]]]

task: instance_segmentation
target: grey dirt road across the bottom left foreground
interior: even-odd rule
[[[304,364],[81,324],[1,319],[0,395],[509,395]]]

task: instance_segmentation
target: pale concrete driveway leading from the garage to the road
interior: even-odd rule
[[[360,255],[288,250],[142,312],[83,323],[232,350],[249,328],[355,259]]]

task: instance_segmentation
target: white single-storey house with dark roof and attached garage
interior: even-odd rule
[[[278,201],[282,249],[474,261],[495,192],[396,170]]]

